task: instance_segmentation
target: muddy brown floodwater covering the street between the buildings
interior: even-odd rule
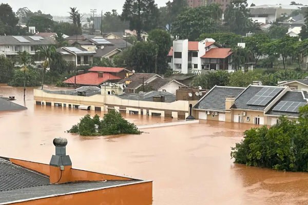
[[[2,85],[0,95],[15,95],[24,105],[22,90]],[[75,168],[153,180],[156,205],[308,204],[307,173],[245,167],[230,159],[230,147],[249,125],[201,121],[141,135],[80,137],[64,131],[95,112],[36,106],[33,89],[27,89],[25,103],[28,110],[0,112],[0,156],[49,163],[52,139],[61,136],[68,139]],[[139,125],[171,121],[124,117]]]

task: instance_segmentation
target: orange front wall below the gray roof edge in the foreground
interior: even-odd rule
[[[150,205],[152,204],[152,182],[138,183],[98,191],[69,194],[31,201],[20,205]]]

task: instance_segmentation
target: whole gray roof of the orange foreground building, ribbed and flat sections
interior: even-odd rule
[[[0,204],[126,186],[140,180],[80,181],[50,185],[49,176],[0,158]]]

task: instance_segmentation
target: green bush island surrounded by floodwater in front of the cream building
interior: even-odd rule
[[[125,120],[119,112],[114,110],[105,114],[102,120],[99,115],[91,118],[87,114],[67,132],[79,133],[82,136],[141,134],[136,125]]]

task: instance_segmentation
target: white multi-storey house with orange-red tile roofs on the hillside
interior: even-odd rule
[[[169,66],[177,73],[200,74],[202,70],[228,70],[233,72],[231,49],[221,48],[214,39],[207,38],[201,42],[174,40],[170,49]]]

